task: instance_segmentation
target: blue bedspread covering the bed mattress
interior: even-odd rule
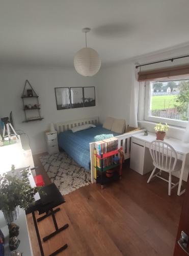
[[[95,128],[72,133],[72,131],[62,132],[58,136],[59,146],[75,160],[80,166],[90,169],[90,149],[89,143],[94,142],[94,137],[101,134],[120,135],[110,130],[104,129],[102,125]]]

